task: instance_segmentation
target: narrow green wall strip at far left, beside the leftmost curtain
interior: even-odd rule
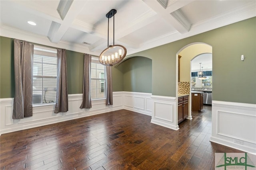
[[[14,39],[0,37],[0,98],[14,97]]]

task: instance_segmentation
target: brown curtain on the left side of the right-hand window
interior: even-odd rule
[[[92,99],[91,99],[91,63],[92,56],[84,54],[84,79],[83,79],[83,101],[80,106],[80,109],[92,108]]]

